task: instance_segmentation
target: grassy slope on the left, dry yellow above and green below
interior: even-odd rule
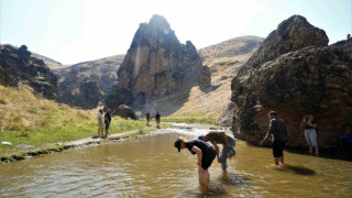
[[[82,111],[52,100],[41,99],[32,89],[21,85],[18,88],[0,86],[0,156],[28,151],[20,148],[29,144],[35,148],[50,143],[73,141],[97,134],[97,110]],[[111,133],[142,129],[144,122],[113,118]]]

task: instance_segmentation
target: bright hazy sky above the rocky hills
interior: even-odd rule
[[[125,54],[139,24],[153,14],[197,48],[266,37],[293,14],[324,30],[330,44],[352,33],[351,0],[0,0],[0,43],[76,64]]]

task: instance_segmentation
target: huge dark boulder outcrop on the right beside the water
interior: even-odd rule
[[[235,136],[258,143],[268,129],[267,112],[276,110],[287,124],[287,145],[306,146],[299,125],[302,116],[311,113],[319,125],[318,142],[328,147],[334,145],[337,132],[351,119],[352,62],[342,50],[324,46],[328,38],[322,36],[323,31],[302,22],[308,23],[294,15],[280,23],[264,41],[261,52],[254,53],[233,78]],[[290,32],[294,26],[301,29],[293,29],[289,42],[277,34]],[[293,36],[295,32],[301,36]],[[280,42],[276,43],[278,48],[267,47],[271,41],[290,43],[292,48],[283,47]],[[257,105],[263,108],[255,109]]]

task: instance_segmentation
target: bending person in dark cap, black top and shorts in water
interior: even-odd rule
[[[178,152],[187,147],[193,155],[197,154],[199,184],[207,185],[210,180],[208,168],[216,158],[216,150],[201,140],[187,141],[182,136],[176,140],[175,147],[177,147]]]

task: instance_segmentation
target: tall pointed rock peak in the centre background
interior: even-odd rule
[[[118,72],[116,92],[106,106],[144,106],[180,89],[201,82],[210,85],[210,75],[191,42],[180,44],[167,21],[154,15],[136,31]],[[117,92],[123,94],[118,95]],[[112,97],[116,96],[116,97]]]

